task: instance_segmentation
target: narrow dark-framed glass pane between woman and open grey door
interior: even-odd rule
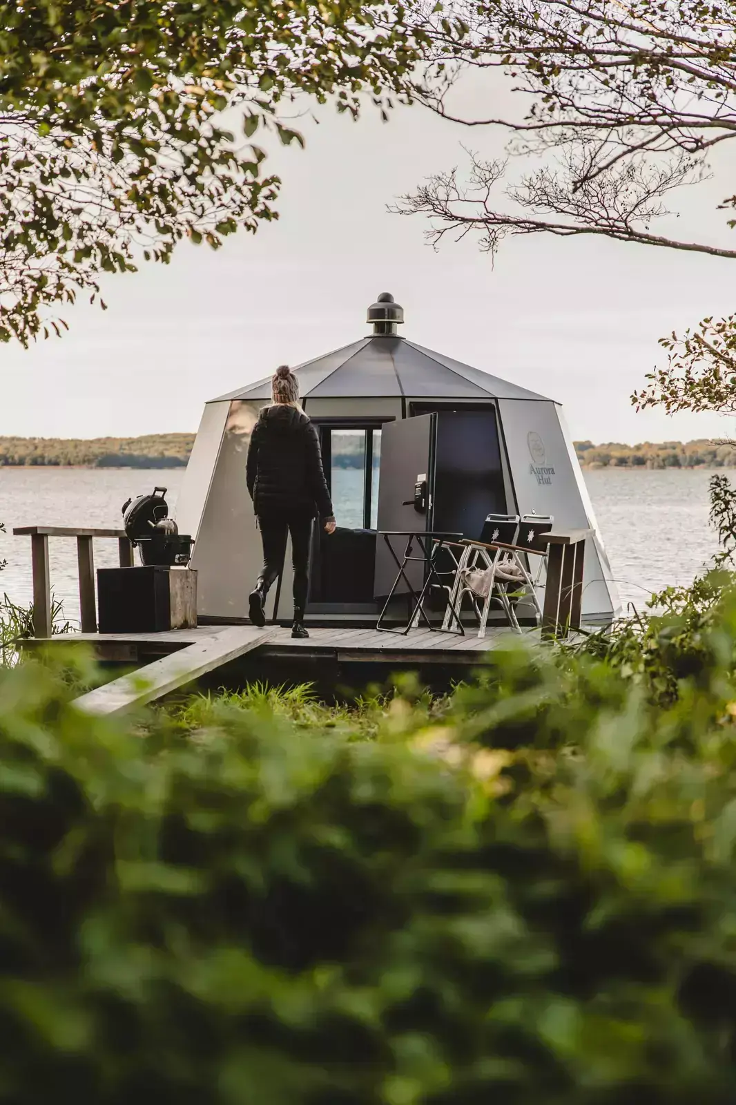
[[[345,529],[375,529],[380,429],[322,427],[322,441],[337,525]]]

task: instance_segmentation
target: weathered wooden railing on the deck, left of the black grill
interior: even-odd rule
[[[76,559],[80,571],[80,613],[83,633],[97,630],[97,602],[95,600],[95,558],[92,541],[95,537],[117,539],[122,568],[133,565],[133,546],[124,529],[75,529],[67,526],[19,526],[17,537],[31,538],[33,568],[33,635],[51,636],[51,579],[49,576],[49,538],[75,537]]]

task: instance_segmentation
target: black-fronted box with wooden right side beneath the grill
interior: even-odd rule
[[[101,633],[158,633],[197,624],[197,572],[190,568],[98,568]]]

